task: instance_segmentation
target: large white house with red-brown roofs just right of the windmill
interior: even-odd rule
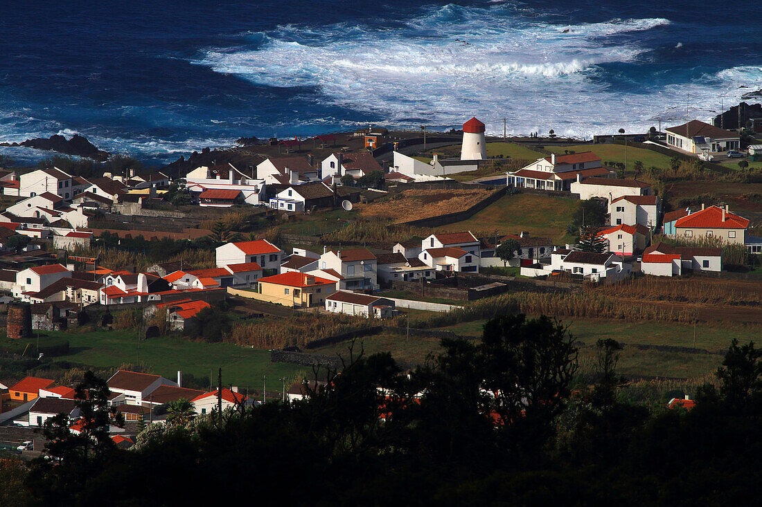
[[[592,151],[538,158],[518,171],[507,174],[507,183],[536,190],[571,190],[571,183],[586,177],[613,177]]]

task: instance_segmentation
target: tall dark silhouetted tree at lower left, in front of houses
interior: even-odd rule
[[[71,431],[67,414],[47,419],[43,426],[46,457],[35,458],[30,472],[34,494],[47,505],[72,505],[71,499],[91,477],[110,460],[116,446],[109,437],[109,426],[124,425],[124,416],[110,407],[110,391],[106,381],[91,370],[75,387],[75,407],[81,419],[78,434]]]

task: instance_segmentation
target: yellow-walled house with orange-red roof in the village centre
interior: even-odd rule
[[[258,280],[261,301],[290,307],[323,306],[325,298],[336,292],[336,282],[307,273],[289,271]]]

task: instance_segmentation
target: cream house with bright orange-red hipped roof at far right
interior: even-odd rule
[[[728,206],[701,207],[674,222],[675,235],[680,238],[719,238],[724,243],[744,244],[747,218],[728,211]]]

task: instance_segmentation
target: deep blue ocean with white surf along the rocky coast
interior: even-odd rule
[[[760,16],[738,0],[14,3],[0,141],[80,132],[168,161],[241,136],[472,115],[495,133],[645,131],[762,88]]]

